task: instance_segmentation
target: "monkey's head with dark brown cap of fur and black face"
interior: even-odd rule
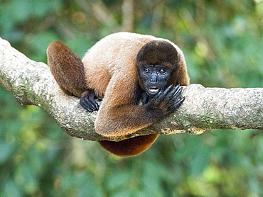
[[[178,67],[178,52],[171,43],[152,40],[139,50],[136,57],[139,85],[153,97],[171,84]]]

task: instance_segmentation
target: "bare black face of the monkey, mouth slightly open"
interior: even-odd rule
[[[159,91],[166,88],[171,70],[163,65],[142,65],[139,69],[139,77],[144,81],[146,94],[153,97]]]

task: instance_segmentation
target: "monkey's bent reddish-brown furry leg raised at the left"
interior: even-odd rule
[[[66,45],[55,41],[48,46],[48,65],[60,88],[70,96],[81,97],[85,88],[83,63]]]

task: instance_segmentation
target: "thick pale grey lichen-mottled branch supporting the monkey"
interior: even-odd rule
[[[87,113],[79,99],[66,96],[48,66],[34,62],[0,38],[0,84],[16,100],[43,108],[69,135],[85,140],[124,140],[149,133],[203,133],[208,129],[263,129],[263,89],[204,88],[192,84],[183,91],[178,111],[134,135],[103,137],[95,133],[97,113]],[[127,112],[129,113],[129,112]]]

